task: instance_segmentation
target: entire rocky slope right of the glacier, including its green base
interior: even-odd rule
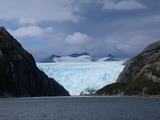
[[[111,85],[105,86],[96,94],[160,94],[160,41],[150,44],[139,55],[124,64],[125,68],[116,83],[112,84],[112,87]]]

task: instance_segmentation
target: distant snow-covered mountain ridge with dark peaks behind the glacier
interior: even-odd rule
[[[109,54],[107,57],[96,58],[89,53],[73,53],[67,56],[51,55],[44,59],[42,62],[107,62],[107,61],[119,61],[113,55]]]

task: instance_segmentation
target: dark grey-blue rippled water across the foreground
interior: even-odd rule
[[[0,120],[160,120],[160,98],[0,99]]]

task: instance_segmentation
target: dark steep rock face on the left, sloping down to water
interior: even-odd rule
[[[68,91],[40,71],[32,55],[0,27],[0,96],[68,95]]]

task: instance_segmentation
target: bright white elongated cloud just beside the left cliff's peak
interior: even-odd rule
[[[11,34],[15,37],[35,37],[52,31],[54,30],[51,27],[43,29],[35,25],[20,27],[16,30],[9,30],[9,32],[11,32]]]

